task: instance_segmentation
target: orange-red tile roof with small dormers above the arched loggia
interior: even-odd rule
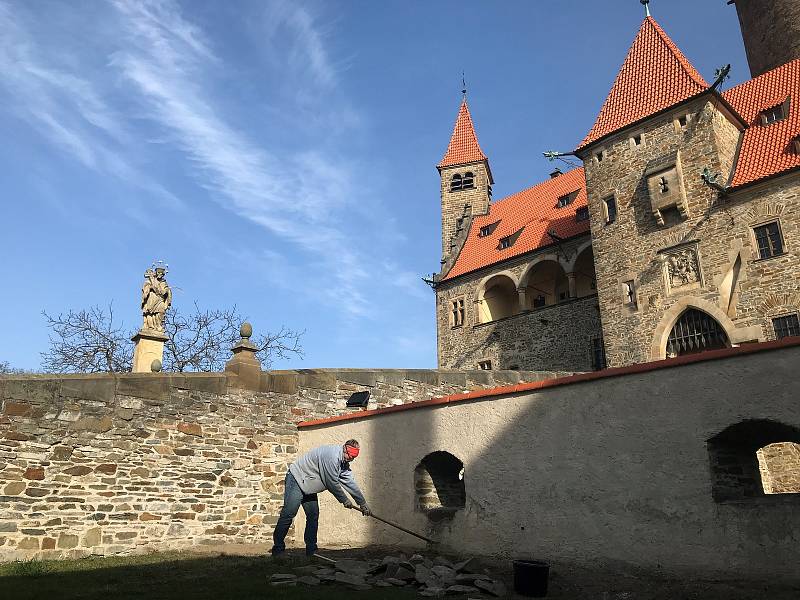
[[[578,192],[577,197],[567,206],[558,208],[558,198]],[[573,169],[563,175],[549,179],[493,202],[489,214],[477,216],[472,220],[467,240],[458,255],[453,268],[443,280],[453,279],[488,265],[525,254],[537,248],[554,243],[547,231],[553,231],[561,238],[570,238],[588,233],[589,221],[576,221],[575,211],[585,207],[586,179],[583,168]],[[497,223],[494,231],[487,236],[478,234],[482,227]],[[500,250],[500,238],[522,233],[510,248]]]

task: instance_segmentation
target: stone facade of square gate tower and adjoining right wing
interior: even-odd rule
[[[680,128],[678,117],[689,117]],[[630,138],[642,133],[644,143]],[[700,179],[703,169],[724,182],[736,151],[736,128],[707,98],[626,131],[585,160],[598,297],[610,366],[665,357],[680,314],[698,308],[725,329],[732,343],[774,339],[771,319],[800,309],[800,177],[786,176],[719,198]],[[688,218],[659,225],[645,177],[648,164],[680,150]],[[614,195],[615,223],[603,218]],[[753,227],[776,220],[785,254],[759,259]],[[672,253],[696,256],[698,281],[670,285]],[[688,253],[688,254],[687,254]],[[635,282],[637,305],[625,305],[623,284]]]

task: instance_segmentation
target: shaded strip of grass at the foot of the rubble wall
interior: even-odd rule
[[[301,562],[302,561],[302,562]],[[0,598],[5,600],[409,600],[412,590],[343,586],[279,588],[273,573],[291,573],[304,559],[274,564],[261,556],[208,556],[167,552],[143,556],[24,561],[0,564]]]

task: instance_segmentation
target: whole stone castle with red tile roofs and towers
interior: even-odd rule
[[[583,167],[508,198],[462,100],[437,165],[440,367],[585,371],[800,335],[800,13],[736,5],[757,76],[721,92],[648,15]]]

